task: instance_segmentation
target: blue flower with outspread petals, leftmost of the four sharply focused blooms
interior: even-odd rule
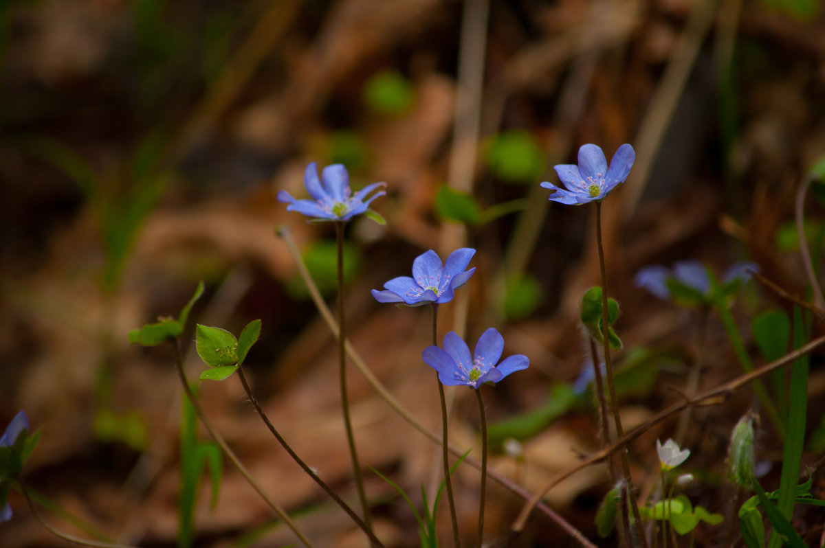
[[[315,162],[310,163],[304,171],[304,186],[312,199],[295,199],[286,190],[281,190],[278,201],[289,204],[286,206],[287,211],[297,211],[308,217],[329,221],[349,221],[356,215],[365,213],[372,200],[387,194],[380,190],[366,199],[373,190],[386,186],[386,183],[373,183],[352,195],[350,176],[342,164],[324,167],[321,180],[318,180],[318,166]]]

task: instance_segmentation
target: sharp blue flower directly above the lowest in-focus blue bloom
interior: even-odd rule
[[[372,290],[378,302],[398,302],[408,307],[420,307],[431,302],[450,302],[455,289],[460,288],[475,272],[475,267],[464,270],[475,250],[462,247],[450,253],[446,263],[435,251],[418,255],[413,261],[413,278],[398,276],[384,283],[386,291]]]

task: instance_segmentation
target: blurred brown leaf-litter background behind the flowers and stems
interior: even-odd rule
[[[56,505],[47,519],[81,536],[189,544],[178,508],[191,447],[181,444],[173,354],[130,346],[126,333],[177,316],[200,280],[206,293],[191,318],[235,334],[262,319],[246,363],[258,399],[356,505],[334,340],[275,232],[288,227],[334,304],[332,227],[275,200],[282,189],[307,197],[309,162],[344,163],[354,188],[387,183],[373,204],[387,225],[347,226],[348,330],[389,391],[436,432],[436,386],[420,358],[430,313],[380,305],[370,289],[409,275],[427,249],[442,258],[478,250],[473,279],[441,307],[440,338],[457,330],[474,341],[495,326],[505,355],[530,357],[528,371],[484,389],[491,422],[516,421],[496,431],[491,466],[528,490],[598,447],[587,396],[551,396],[589,367],[577,307],[599,283],[595,211],[549,203],[539,186],[558,183],[554,164],[575,163],[581,144],[608,159],[622,143],[637,153],[603,208],[608,287],[622,307],[626,428],[679,398],[669,386],[684,385],[695,354],[697,316],[634,288],[639,268],[698,259],[721,273],[750,259],[790,293],[805,292],[793,205],[825,152],[818,0],[5,0],[0,66],[0,424],[25,409],[43,428],[26,478]],[[807,204],[812,241],[822,198]],[[770,307],[787,304],[755,285],[739,296],[746,340],[747,317]],[[189,326],[182,340],[193,338]],[[205,366],[190,354],[194,380]],[[739,372],[714,316],[705,356],[700,386]],[[813,433],[821,369],[810,386]],[[350,388],[361,461],[420,508],[420,486],[434,491],[436,446],[354,369]],[[474,398],[451,395],[451,440],[478,449]],[[266,432],[235,377],[200,383],[200,398],[318,546],[365,546]],[[724,527],[738,527],[721,480],[726,440],[750,399],[742,392],[695,412],[684,440],[705,478],[691,497],[723,513]],[[631,446],[642,493],[657,478],[654,441],[674,428],[659,424]],[[505,438],[519,441],[510,453]],[[772,433],[761,440],[762,458],[779,460]],[[208,468],[196,478],[191,546],[294,542],[229,463],[214,508]],[[369,470],[365,478],[377,534],[387,546],[418,546],[394,488]],[[603,542],[593,517],[607,483],[593,467],[551,491],[549,504]],[[465,543],[475,538],[478,489],[478,473],[461,467]],[[493,540],[521,499],[488,489]],[[11,502],[0,545],[67,546],[20,494]],[[723,541],[719,527],[696,532],[700,546]],[[573,544],[536,515],[521,546]]]

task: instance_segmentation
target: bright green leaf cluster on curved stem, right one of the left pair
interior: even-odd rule
[[[247,358],[252,344],[261,335],[261,321],[252,320],[241,331],[238,339],[219,327],[196,326],[195,348],[210,367],[200,374],[200,380],[223,381],[236,372]]]

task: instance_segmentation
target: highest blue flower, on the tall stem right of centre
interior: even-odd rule
[[[600,202],[607,198],[610,190],[624,183],[633,167],[636,152],[629,144],[623,144],[610,160],[607,167],[605,153],[595,144],[582,145],[578,149],[578,165],[559,164],[554,169],[567,190],[553,183],[541,184],[545,189],[555,190],[550,200],[559,204],[581,205]]]

